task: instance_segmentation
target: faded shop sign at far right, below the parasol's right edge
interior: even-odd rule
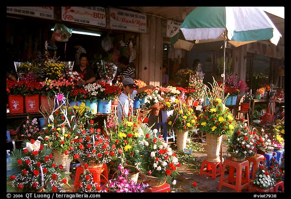
[[[275,46],[266,41],[257,41],[247,45],[247,51],[249,53],[264,55],[276,59],[284,59],[284,46]]]

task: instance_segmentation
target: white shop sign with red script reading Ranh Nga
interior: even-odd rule
[[[147,32],[147,15],[119,9],[109,9],[110,28],[132,32]]]

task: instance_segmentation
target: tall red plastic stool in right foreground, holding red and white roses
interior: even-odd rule
[[[226,166],[229,166],[229,175],[224,178],[224,172]],[[247,187],[250,190],[250,175],[243,176],[243,169],[248,174],[250,172],[250,163],[248,160],[244,161],[233,161],[230,157],[226,158],[223,163],[222,172],[220,175],[220,181],[218,189],[221,190],[222,186],[227,186],[235,190],[235,192],[241,192],[241,189]],[[234,176],[234,169],[236,170],[236,176]],[[235,180],[235,185],[232,182]],[[227,181],[227,182],[225,182]]]

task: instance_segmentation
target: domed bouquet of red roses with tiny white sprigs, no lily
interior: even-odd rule
[[[76,135],[72,151],[75,160],[89,167],[107,164],[115,160],[118,154],[111,139],[103,135],[100,129],[95,130],[92,124],[91,120],[90,125]]]

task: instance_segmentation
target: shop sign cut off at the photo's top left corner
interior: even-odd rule
[[[39,17],[45,19],[54,19],[54,7],[35,6],[35,7],[6,7],[7,13]]]

